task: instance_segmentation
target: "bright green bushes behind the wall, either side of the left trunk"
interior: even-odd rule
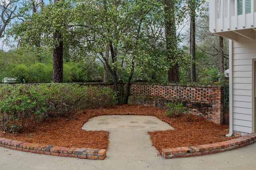
[[[4,77],[15,77],[17,83],[50,83],[52,81],[52,61],[37,62],[35,55],[33,52],[28,55],[18,49],[8,52],[0,51],[0,80]],[[14,59],[14,57],[17,58]],[[25,57],[27,58],[25,59]],[[98,70],[100,64],[92,59],[79,62],[69,61],[64,63],[63,67],[65,83],[97,80],[100,77]]]

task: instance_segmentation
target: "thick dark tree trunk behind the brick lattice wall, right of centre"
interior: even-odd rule
[[[172,63],[168,70],[168,82],[180,82],[179,65],[175,61],[177,40],[175,26],[174,0],[164,0],[165,12],[165,36],[166,36],[166,56],[167,60]]]

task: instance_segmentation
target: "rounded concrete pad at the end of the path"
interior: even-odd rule
[[[154,116],[104,115],[89,119],[82,129],[148,132],[155,130],[173,130],[174,128]]]

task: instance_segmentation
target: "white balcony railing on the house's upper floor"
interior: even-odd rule
[[[256,0],[210,0],[210,31],[256,27]]]

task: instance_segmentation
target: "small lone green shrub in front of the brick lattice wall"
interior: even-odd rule
[[[186,112],[187,107],[184,107],[182,103],[166,103],[166,116],[177,117],[180,114]]]

